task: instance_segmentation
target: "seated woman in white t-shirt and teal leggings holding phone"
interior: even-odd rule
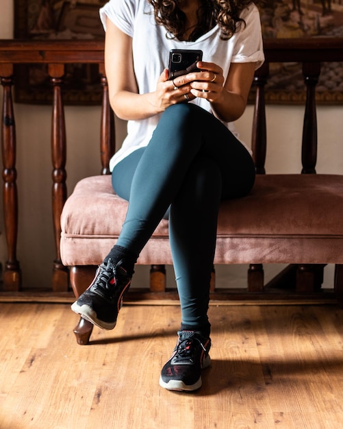
[[[90,287],[72,309],[112,329],[134,264],[170,208],[170,247],[181,328],[160,385],[201,387],[210,363],[207,317],[218,207],[253,186],[251,154],[231,122],[262,64],[259,13],[250,0],[110,0],[101,8],[110,103],[128,121],[110,167],[127,217]],[[201,49],[200,71],[168,80],[170,49]],[[109,213],[109,216],[115,213]]]

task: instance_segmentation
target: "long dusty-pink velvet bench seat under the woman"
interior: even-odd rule
[[[81,180],[62,212],[62,262],[99,264],[126,211],[110,176]],[[215,263],[343,263],[342,213],[343,175],[257,175],[250,195],[220,206]],[[138,262],[172,263],[168,221]]]

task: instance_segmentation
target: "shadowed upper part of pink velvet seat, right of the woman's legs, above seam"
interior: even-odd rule
[[[218,235],[341,236],[343,175],[257,175],[248,197],[223,201]]]

